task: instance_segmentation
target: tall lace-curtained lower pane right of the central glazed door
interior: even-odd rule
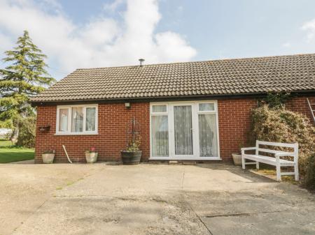
[[[218,157],[216,114],[199,114],[200,157]]]

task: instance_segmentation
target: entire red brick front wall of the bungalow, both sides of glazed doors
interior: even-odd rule
[[[312,97],[315,103],[315,97]],[[36,162],[41,162],[41,153],[45,149],[55,149],[56,162],[66,162],[62,144],[66,146],[73,161],[85,162],[85,149],[95,146],[99,160],[120,160],[120,150],[125,148],[126,123],[135,116],[141,132],[143,157],[150,156],[150,111],[149,103],[132,103],[126,109],[124,103],[99,104],[99,135],[55,135],[56,107],[38,107],[36,130]],[[223,160],[232,160],[231,153],[238,152],[241,144],[248,142],[251,128],[250,113],[257,101],[253,98],[218,100],[218,128],[220,153]],[[293,98],[287,104],[288,109],[301,112],[309,117],[309,107],[305,97]],[[50,125],[49,132],[39,132],[38,127]]]

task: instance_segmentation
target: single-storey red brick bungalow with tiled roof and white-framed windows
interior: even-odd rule
[[[133,116],[142,161],[230,160],[269,91],[290,91],[287,107],[313,121],[315,54],[77,69],[32,99],[35,160],[55,149],[55,162],[66,162],[64,144],[74,162],[91,146],[98,160],[120,161]]]

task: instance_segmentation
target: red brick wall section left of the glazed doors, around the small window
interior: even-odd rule
[[[150,111],[149,103],[132,103],[131,109],[125,103],[99,104],[99,135],[55,135],[56,106],[40,106],[37,109],[36,162],[41,162],[41,154],[46,149],[55,149],[55,162],[67,162],[62,149],[66,146],[69,157],[74,162],[85,162],[84,151],[95,146],[98,160],[120,160],[120,150],[126,145],[126,125],[132,117],[139,123],[141,133],[142,159],[150,155]],[[40,126],[50,125],[49,132],[40,132]]]

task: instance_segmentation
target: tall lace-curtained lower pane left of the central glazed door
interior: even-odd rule
[[[169,156],[169,126],[167,116],[152,116],[152,155]]]

